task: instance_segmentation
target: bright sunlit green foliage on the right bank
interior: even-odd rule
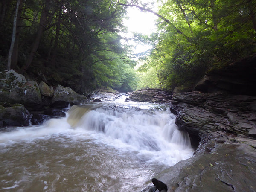
[[[158,12],[158,33],[151,36],[154,50],[139,69],[147,74],[139,87],[148,86],[143,84],[148,75],[169,90],[193,84],[213,64],[255,53],[255,5],[255,0],[167,0]]]

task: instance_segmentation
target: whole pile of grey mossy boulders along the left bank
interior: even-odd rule
[[[0,72],[0,128],[41,124],[65,116],[62,108],[90,102],[69,87],[48,86],[43,81],[27,81],[14,70]]]

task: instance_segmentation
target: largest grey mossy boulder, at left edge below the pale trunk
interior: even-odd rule
[[[29,110],[41,108],[41,93],[35,81],[26,81],[14,70],[1,72],[0,79],[0,102],[21,103]]]

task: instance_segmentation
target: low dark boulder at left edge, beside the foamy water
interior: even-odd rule
[[[22,104],[0,105],[0,128],[5,126],[27,126],[31,115]]]

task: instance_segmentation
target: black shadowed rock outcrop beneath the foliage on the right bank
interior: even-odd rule
[[[256,96],[256,54],[234,63],[215,64],[195,85],[194,90],[204,93],[241,94]]]

